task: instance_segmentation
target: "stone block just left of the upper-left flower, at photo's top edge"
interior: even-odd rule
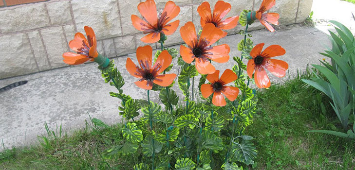
[[[141,17],[137,8],[139,0],[118,0],[118,3],[120,6],[123,35],[138,33],[139,31],[132,25],[131,15]]]

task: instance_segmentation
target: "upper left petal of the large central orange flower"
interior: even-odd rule
[[[196,44],[197,35],[195,26],[191,21],[187,22],[184,26],[180,28],[180,35],[185,41],[185,43],[188,45],[188,47],[192,49],[193,46]]]

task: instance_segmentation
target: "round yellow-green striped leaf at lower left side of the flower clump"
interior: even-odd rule
[[[130,122],[127,127],[122,128],[122,135],[131,143],[139,143],[143,140],[142,130],[138,129],[137,124]]]

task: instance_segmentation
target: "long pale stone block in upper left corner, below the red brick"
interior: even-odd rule
[[[0,30],[2,33],[50,26],[49,17],[43,3],[1,9],[0,16]]]

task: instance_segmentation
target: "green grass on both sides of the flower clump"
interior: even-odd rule
[[[300,79],[273,85],[258,92],[258,112],[245,135],[254,136],[255,170],[354,170],[355,142],[308,130],[338,130],[329,99]],[[321,108],[321,103],[325,107]],[[334,124],[334,125],[333,125]],[[37,146],[0,153],[0,169],[6,170],[131,170],[136,158],[106,160],[101,152],[120,140],[121,125],[98,129],[87,123],[72,135],[49,132]],[[54,136],[53,134],[56,134]]]

